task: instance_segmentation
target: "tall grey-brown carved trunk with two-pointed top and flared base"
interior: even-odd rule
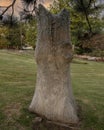
[[[37,19],[37,81],[29,110],[52,121],[77,123],[70,81],[70,62],[73,56],[69,37],[69,13],[63,10],[52,15],[39,5]]]

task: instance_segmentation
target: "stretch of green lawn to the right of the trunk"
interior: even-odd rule
[[[72,64],[72,84],[82,109],[81,130],[104,130],[104,63]]]

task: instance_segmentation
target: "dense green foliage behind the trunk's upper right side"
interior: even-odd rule
[[[81,3],[83,1],[83,3]],[[99,17],[103,5],[96,5],[89,0],[57,0],[51,7],[53,13],[66,8],[70,12],[71,41],[80,49],[79,53],[89,52],[80,46],[83,39],[89,39],[94,34],[102,32],[104,21]]]

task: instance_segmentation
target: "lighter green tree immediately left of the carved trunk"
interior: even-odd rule
[[[35,48],[37,27],[36,17],[29,12],[21,12],[21,30],[24,34],[24,43]]]

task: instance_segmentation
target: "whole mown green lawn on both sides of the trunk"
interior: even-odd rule
[[[74,60],[71,76],[80,130],[104,130],[104,63]],[[0,130],[31,130],[35,80],[33,52],[0,50]]]

